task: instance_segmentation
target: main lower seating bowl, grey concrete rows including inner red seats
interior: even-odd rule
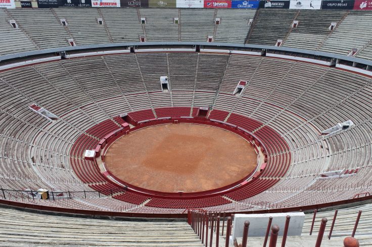
[[[372,129],[367,116],[370,114],[368,99],[372,95],[368,78],[276,58],[232,54],[227,59],[227,55],[203,53],[182,53],[177,57],[178,54],[96,56],[3,72],[0,161],[4,171],[8,171],[0,176],[3,188],[105,191],[101,193],[103,198],[96,194],[85,203],[56,203],[79,209],[117,208],[114,202],[119,200],[115,198],[123,199],[127,208],[136,205],[127,209],[133,212],[179,212],[188,205],[202,205],[205,202],[198,200],[192,204],[171,202],[171,207],[163,209],[159,206],[167,200],[148,201],[145,197],[143,201],[136,201],[137,194],[112,187],[94,163],[82,158],[86,149],[94,149],[100,138],[120,128],[121,118],[117,116],[121,113],[128,112],[134,120],[141,121],[190,116],[191,107],[195,116],[196,107],[212,106],[210,119],[227,118],[228,123],[253,132],[265,143],[268,160],[261,177],[252,184],[252,188],[257,189],[241,189],[231,194],[231,199],[237,202],[216,198],[213,203],[205,204],[207,208],[252,210],[270,201],[274,202],[270,207],[306,205],[348,199],[365,191],[365,184],[370,182],[371,135],[368,133]],[[143,57],[157,60],[159,70],[156,71],[155,66],[146,68]],[[181,61],[190,61],[187,63],[190,77],[184,81],[184,68],[177,66]],[[212,64],[217,65],[212,68],[215,73],[205,73]],[[243,67],[248,69],[243,71]],[[127,69],[125,73],[123,68]],[[171,90],[161,92],[159,77],[168,75],[168,69]],[[218,70],[222,72],[216,73]],[[37,86],[31,80],[37,82]],[[242,95],[234,96],[232,91],[239,80],[246,80],[248,84]],[[335,89],[332,96],[325,93],[330,86]],[[320,95],[327,100],[320,99]],[[60,118],[49,122],[28,108],[32,104],[57,113]],[[331,137],[319,136],[319,131],[347,119],[357,125]],[[103,128],[105,123],[109,128]],[[13,169],[15,164],[17,169]],[[343,168],[359,170],[356,175],[334,180],[335,183],[316,179],[325,169]],[[57,174],[59,180],[54,176]],[[345,181],[359,185],[346,192],[341,189]],[[329,193],[335,196],[316,201],[316,190],[320,187],[328,187],[332,191]],[[278,191],[289,188],[292,192],[277,198]],[[73,200],[84,200],[83,197],[81,193],[76,194]],[[103,205],[106,198],[108,203]],[[19,200],[18,197],[11,199]],[[95,199],[100,203],[96,204]],[[32,203],[32,199],[27,201]],[[131,202],[136,203],[130,205]],[[239,202],[249,202],[249,205]]]

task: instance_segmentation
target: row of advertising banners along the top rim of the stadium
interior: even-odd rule
[[[363,0],[3,0],[0,8],[204,8],[204,9],[296,9],[372,10]]]

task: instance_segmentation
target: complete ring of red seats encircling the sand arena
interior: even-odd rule
[[[163,107],[155,109],[158,117],[180,117],[190,116],[190,107]],[[193,109],[193,116],[196,116],[198,108]],[[130,112],[128,115],[136,120],[142,121],[147,119],[154,119],[155,115],[151,109]],[[223,121],[228,112],[222,110],[212,110],[209,118]],[[119,124],[125,122],[121,117],[116,116],[114,120]],[[232,113],[227,122],[232,123],[252,132],[258,129],[262,124],[254,119]],[[119,129],[120,127],[111,119],[101,122],[99,125],[90,128],[86,131],[93,136],[103,138],[108,133]],[[236,191],[226,193],[225,196],[234,200],[243,200],[253,197],[271,186],[273,186],[280,177],[284,176],[289,168],[291,161],[291,153],[289,146],[285,140],[271,128],[264,126],[254,133],[266,147],[267,164],[263,172],[258,178],[253,179],[245,186]],[[100,191],[105,195],[114,195],[113,198],[118,200],[140,205],[150,198],[147,195],[140,195],[118,186],[109,181],[103,174],[101,174],[99,167],[88,160],[83,160],[84,151],[86,149],[94,149],[99,140],[88,135],[82,134],[74,143],[70,152],[70,162],[77,176],[88,186],[94,190]],[[357,172],[357,169],[346,171],[345,173]],[[205,208],[212,206],[219,206],[230,203],[229,200],[221,196],[212,196],[209,198],[187,199],[187,198],[152,198],[146,206],[157,208]]]

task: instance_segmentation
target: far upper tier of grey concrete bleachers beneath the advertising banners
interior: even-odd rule
[[[212,41],[275,45],[370,59],[370,12],[274,9],[19,9],[0,12],[0,54],[70,46],[145,41]],[[141,23],[146,18],[146,24]],[[174,24],[174,18],[179,18]],[[220,18],[220,23],[215,23]],[[63,26],[61,19],[66,19]],[[98,19],[102,19],[102,25]],[[253,19],[251,27],[249,20]],[[9,20],[18,25],[14,29]],[[314,21],[316,20],[316,21]],[[292,22],[298,21],[292,28]],[[337,23],[333,30],[331,22]],[[355,40],[354,37],[358,37]],[[21,43],[20,43],[21,42]]]

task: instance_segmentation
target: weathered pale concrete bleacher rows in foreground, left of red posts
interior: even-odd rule
[[[202,246],[187,222],[72,218],[5,208],[0,219],[2,246]]]

